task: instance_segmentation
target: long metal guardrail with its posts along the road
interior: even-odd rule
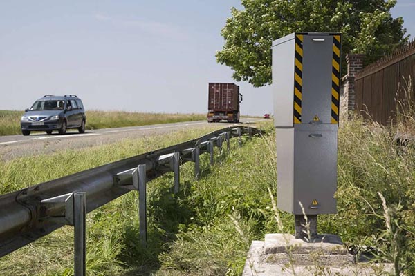
[[[8,255],[64,225],[75,226],[75,276],[85,274],[86,213],[128,193],[139,191],[140,236],[147,242],[146,182],[166,172],[174,172],[174,193],[180,188],[180,165],[194,162],[199,178],[199,155],[209,152],[214,162],[214,146],[222,148],[230,138],[261,130],[250,127],[223,128],[175,146],[91,168],[74,175],[0,195],[0,257]]]

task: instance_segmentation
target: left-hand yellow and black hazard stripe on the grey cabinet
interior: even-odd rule
[[[295,35],[294,124],[301,124],[303,35]]]

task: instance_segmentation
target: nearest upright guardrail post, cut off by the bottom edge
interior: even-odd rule
[[[75,276],[85,276],[86,273],[86,193],[73,194],[73,226],[75,238],[74,273]]]

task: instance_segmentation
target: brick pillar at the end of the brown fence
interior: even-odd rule
[[[346,55],[347,79],[344,82],[344,95],[347,95],[349,110],[355,110],[356,107],[355,75],[363,69],[364,59],[363,54]]]

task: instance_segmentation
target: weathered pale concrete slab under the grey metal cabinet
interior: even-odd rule
[[[265,242],[253,241],[243,269],[243,276],[258,275],[385,275],[393,271],[391,264],[353,262],[341,239],[307,243],[293,235],[269,234]],[[317,239],[319,240],[319,239]],[[325,241],[325,242],[324,242]],[[329,242],[331,241],[331,242]]]

